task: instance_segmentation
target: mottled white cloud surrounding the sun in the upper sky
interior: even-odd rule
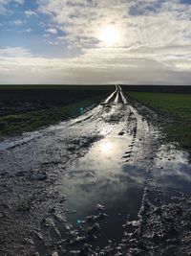
[[[117,47],[184,44],[190,34],[191,7],[178,1],[38,0],[39,12],[67,34],[65,40],[78,48],[98,47],[100,29],[115,24],[122,40]],[[63,14],[64,13],[64,14]]]

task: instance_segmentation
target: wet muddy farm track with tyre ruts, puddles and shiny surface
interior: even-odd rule
[[[78,118],[0,143],[0,255],[191,255],[186,153],[138,110],[117,86]]]

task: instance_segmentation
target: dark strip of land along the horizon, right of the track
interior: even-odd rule
[[[191,93],[191,85],[122,85],[126,91]]]

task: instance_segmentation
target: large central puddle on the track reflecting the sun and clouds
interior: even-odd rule
[[[137,218],[144,171],[124,166],[121,157],[130,143],[128,137],[120,136],[97,142],[74,163],[62,182],[63,192],[68,196],[66,207],[77,212],[67,216],[74,225],[77,219],[96,215],[97,203],[105,205],[109,217],[100,222],[101,235],[96,242],[99,245],[106,243],[107,239],[121,238],[122,224],[129,214],[132,219]]]

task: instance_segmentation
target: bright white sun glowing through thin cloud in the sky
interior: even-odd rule
[[[100,33],[100,40],[106,44],[106,46],[113,46],[120,41],[120,35],[115,26],[107,26],[102,29]]]

